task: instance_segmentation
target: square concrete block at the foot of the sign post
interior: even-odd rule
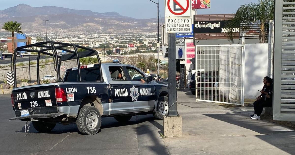
[[[182,136],[182,118],[181,116],[164,116],[164,136],[181,137]]]

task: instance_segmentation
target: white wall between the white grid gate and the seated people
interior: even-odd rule
[[[245,44],[245,99],[260,94],[267,68],[268,44]]]

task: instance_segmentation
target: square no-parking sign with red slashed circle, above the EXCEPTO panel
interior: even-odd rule
[[[191,17],[191,0],[165,0],[165,17]]]

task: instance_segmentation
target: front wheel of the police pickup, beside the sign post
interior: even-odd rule
[[[161,96],[158,99],[157,109],[154,113],[154,117],[160,120],[164,119],[164,114],[168,112],[168,97],[167,96]]]

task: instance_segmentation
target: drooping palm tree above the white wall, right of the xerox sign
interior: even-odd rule
[[[274,19],[274,0],[259,0],[257,4],[248,3],[240,6],[235,17],[227,23],[226,27],[233,28],[242,25],[242,31],[255,30],[259,32],[260,43],[268,42],[269,20]],[[258,28],[253,26],[258,25]],[[228,32],[229,40],[233,43],[233,33]]]

